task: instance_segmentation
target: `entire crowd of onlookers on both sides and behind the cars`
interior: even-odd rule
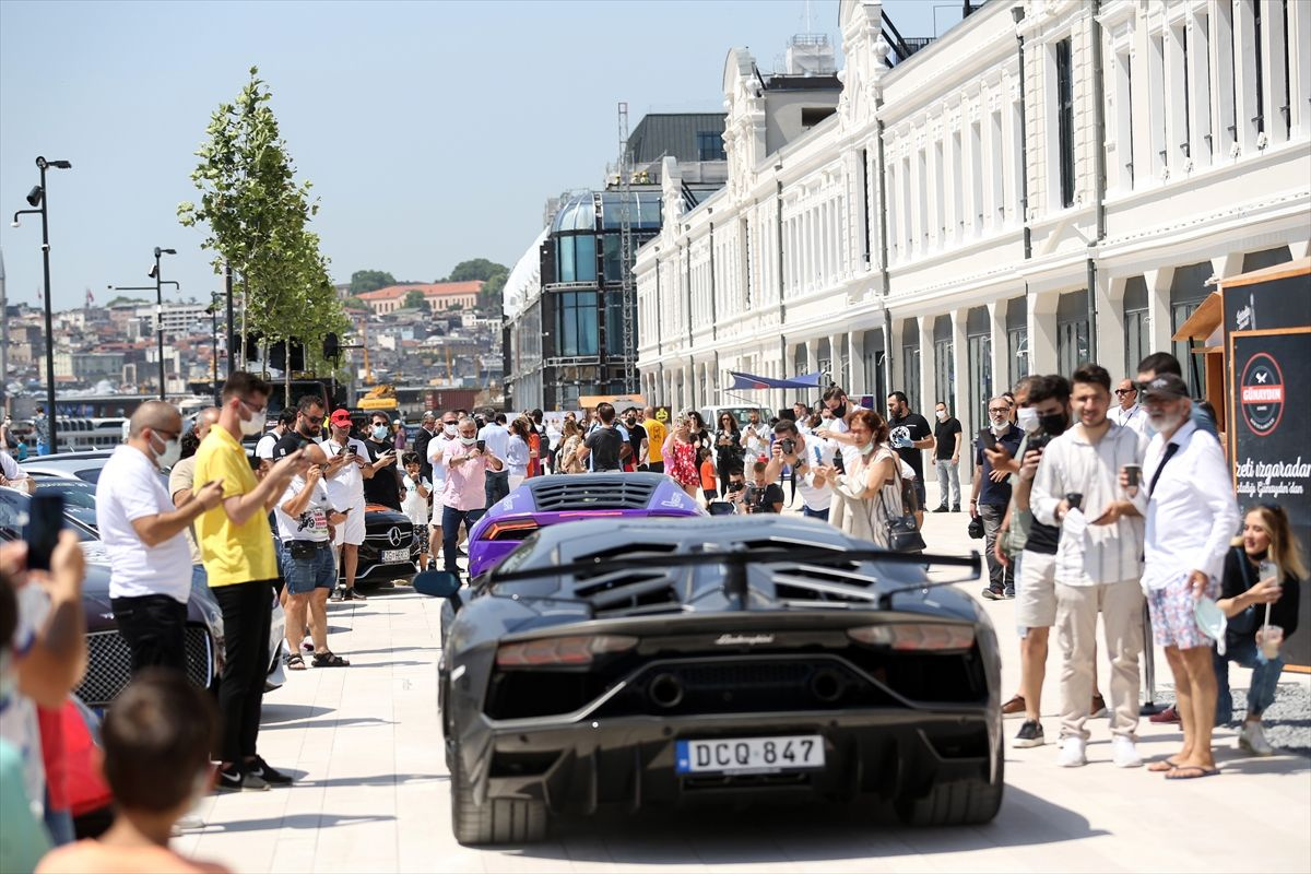
[[[724,413],[713,428],[695,410],[666,422],[652,408],[600,404],[558,426],[541,410],[433,411],[410,440],[387,414],[361,428],[319,396],[300,398],[266,428],[271,388],[241,372],[190,427],[173,406],[143,404],[97,485],[110,600],[134,675],[104,723],[102,773],[117,818],[98,844],[72,844],[62,785],[69,767],[60,759],[72,760],[76,743],[50,730],[87,662],[83,552],[68,532],[49,569],[29,567],[21,542],[0,548],[7,870],[29,870],[43,854],[49,871],[106,860],[190,870],[168,850],[168,837],[199,794],[292,782],[258,744],[273,604],[286,609],[288,670],[307,670],[307,659],[347,667],[329,649],[326,605],[363,600],[354,582],[366,503],[413,522],[421,567],[440,562],[459,573],[461,537],[486,508],[548,474],[662,473],[707,506],[742,514],[781,512],[791,484],[802,515],[918,552],[926,548],[924,452],[937,473],[932,512],[961,512],[958,470],[969,452],[974,474],[964,490],[987,558],[982,598],[1016,601],[1021,679],[1003,705],[1023,714],[1015,746],[1045,742],[1041,692],[1054,628],[1057,764],[1087,761],[1089,719],[1108,709],[1114,764],[1143,764],[1139,658],[1148,633],[1173,674],[1177,702],[1164,718],[1183,732],[1181,748],[1151,770],[1168,780],[1217,773],[1211,731],[1234,718],[1231,662],[1252,670],[1239,744],[1272,755],[1262,714],[1307,577],[1287,514],[1259,504],[1240,516],[1214,418],[1189,398],[1173,356],[1151,355],[1133,379],[1112,384],[1092,363],[1068,376],[1028,376],[987,402],[987,427],[973,438],[945,404],[931,427],[902,392],[888,394],[884,415],[853,405],[839,387],[818,404],[797,401],[791,418]],[[243,446],[252,438],[253,461]],[[3,447],[0,464],[0,485],[30,485]],[[216,702],[184,679],[186,605],[199,590],[223,615]],[[1097,683],[1099,615],[1106,698]],[[46,854],[51,841],[67,846]]]

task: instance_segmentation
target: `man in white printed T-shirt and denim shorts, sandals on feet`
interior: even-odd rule
[[[307,616],[309,637],[315,642],[313,666],[347,667],[350,662],[328,649],[328,595],[337,583],[330,527],[346,522],[345,512],[333,510],[324,486],[329,470],[328,455],[317,443],[303,443],[290,436],[273,448],[273,457],[302,448],[309,466],[292,477],[278,498],[273,515],[282,541],[282,575],[287,580],[287,668],[304,671],[300,634]]]

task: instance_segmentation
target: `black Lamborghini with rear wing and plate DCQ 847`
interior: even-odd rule
[[[448,598],[442,725],[461,844],[551,814],[893,802],[977,824],[1002,803],[996,636],[928,566],[800,518],[543,528]]]

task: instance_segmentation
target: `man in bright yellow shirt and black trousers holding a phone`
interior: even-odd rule
[[[195,520],[210,591],[223,609],[223,732],[215,781],[220,791],[266,790],[291,782],[256,751],[278,586],[269,511],[304,466],[298,449],[273,465],[262,482],[250,469],[241,438],[264,432],[269,390],[253,373],[228,376],[219,422],[195,452],[195,490],[208,482],[223,484],[223,501]]]

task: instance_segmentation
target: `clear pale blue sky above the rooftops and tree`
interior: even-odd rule
[[[465,258],[511,265],[548,197],[600,183],[615,104],[722,106],[729,48],[772,69],[805,0],[511,3],[24,3],[0,0],[0,246],[10,303],[41,288],[39,216],[9,227],[50,172],[55,308],[88,288],[149,284],[156,245],[182,297],[222,282],[177,223],[205,126],[252,64],[321,198],[334,279],[362,269],[431,282]],[[903,35],[960,18],[958,0],[886,0]],[[838,34],[838,0],[810,4]],[[177,294],[166,295],[177,299]]]

